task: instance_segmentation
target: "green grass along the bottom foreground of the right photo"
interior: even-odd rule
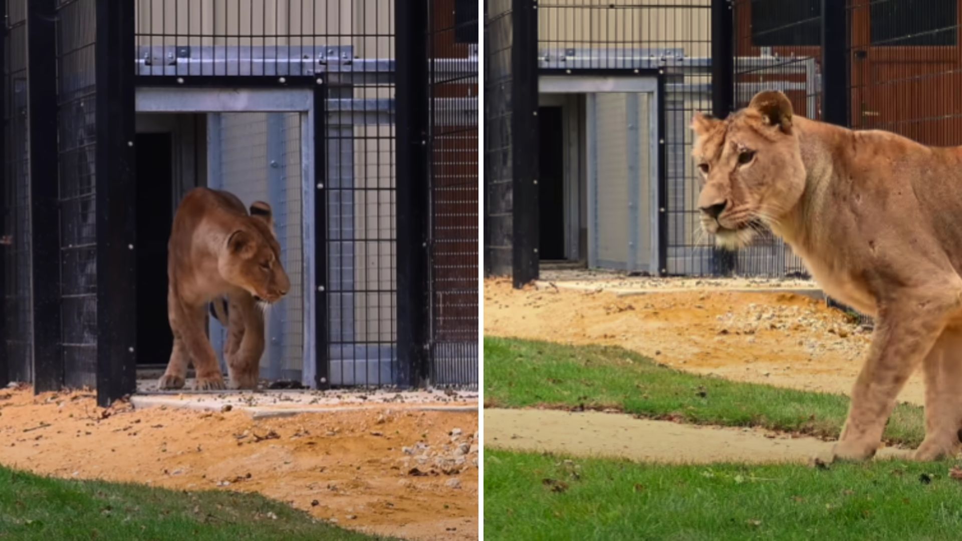
[[[566,463],[488,450],[485,539],[958,539],[962,481],[950,466]]]

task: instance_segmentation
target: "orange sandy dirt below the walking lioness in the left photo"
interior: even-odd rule
[[[226,409],[226,408],[225,408]],[[260,492],[344,528],[477,539],[477,412],[383,403],[255,420],[0,389],[0,463],[56,477]]]

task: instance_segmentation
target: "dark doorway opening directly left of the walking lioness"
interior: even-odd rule
[[[173,335],[167,322],[167,238],[173,219],[173,137],[137,134],[137,362],[165,365]]]

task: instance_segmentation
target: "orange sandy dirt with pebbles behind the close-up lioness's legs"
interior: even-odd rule
[[[774,291],[813,287],[798,280],[556,271],[520,291],[506,279],[484,287],[486,336],[620,346],[679,370],[809,391],[848,394],[871,340],[824,301]],[[922,374],[899,399],[924,403]]]

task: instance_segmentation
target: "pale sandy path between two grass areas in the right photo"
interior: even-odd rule
[[[485,447],[566,456],[707,464],[798,462],[827,455],[833,442],[765,429],[681,425],[630,415],[585,411],[485,408]],[[884,448],[876,456],[907,457]]]

